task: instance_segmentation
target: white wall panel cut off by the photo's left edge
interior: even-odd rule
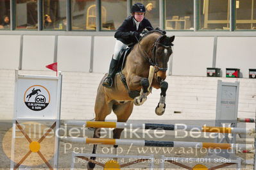
[[[0,40],[0,68],[19,68],[21,36],[1,35]]]

